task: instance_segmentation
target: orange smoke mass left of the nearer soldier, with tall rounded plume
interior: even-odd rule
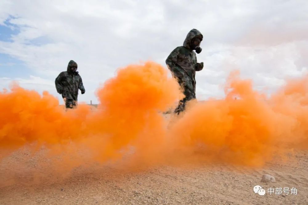
[[[1,150],[31,143],[51,148],[73,142],[85,146],[96,160],[117,158],[128,146],[137,148],[144,134],[145,138],[153,135],[153,139],[142,140],[144,145],[157,142],[164,121],[159,112],[182,97],[167,70],[153,62],[120,69],[97,95],[101,104],[96,112],[87,105],[65,112],[47,92],[41,96],[13,85],[11,92],[0,94]]]

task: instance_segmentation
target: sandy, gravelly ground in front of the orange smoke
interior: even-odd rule
[[[25,167],[8,169],[21,154],[0,163],[0,204],[308,204],[308,152],[263,168],[202,164],[124,171],[97,165],[76,168],[62,179],[51,173],[39,180]],[[14,180],[5,178],[7,172],[16,172]],[[276,183],[261,183],[266,173]],[[266,190],[265,196],[253,192],[255,185]],[[271,187],[295,187],[298,193],[269,195]]]

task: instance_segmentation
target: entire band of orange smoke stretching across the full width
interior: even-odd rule
[[[78,155],[79,165],[83,160],[126,159],[140,165],[205,159],[256,166],[275,153],[307,148],[308,76],[266,98],[234,72],[224,99],[190,102],[181,116],[168,120],[163,112],[183,95],[167,72],[154,62],[120,69],[98,89],[95,111],[81,104],[66,112],[47,92],[41,96],[13,85],[0,93],[0,155],[26,145]]]

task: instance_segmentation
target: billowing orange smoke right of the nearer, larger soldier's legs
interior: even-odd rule
[[[192,104],[174,125],[172,135],[186,152],[202,144],[202,157],[262,165],[274,154],[307,144],[307,83],[307,76],[291,81],[267,99],[252,89],[250,80],[241,80],[233,72],[225,86],[225,99]]]

